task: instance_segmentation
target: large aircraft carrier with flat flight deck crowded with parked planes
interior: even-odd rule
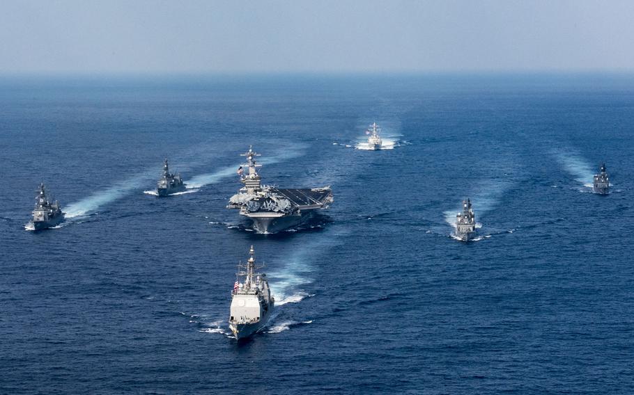
[[[228,209],[240,209],[240,215],[253,221],[258,233],[270,234],[306,222],[318,209],[327,209],[333,202],[330,186],[323,188],[277,188],[261,184],[255,157],[260,156],[252,147],[241,156],[247,157],[244,168],[238,168],[240,182],[245,184],[229,199]]]

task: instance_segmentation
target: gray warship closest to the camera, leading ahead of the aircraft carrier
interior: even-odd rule
[[[266,275],[255,273],[263,266],[255,266],[253,245],[249,255],[246,265],[238,264],[231,292],[229,328],[237,340],[246,339],[264,328],[275,306]]]

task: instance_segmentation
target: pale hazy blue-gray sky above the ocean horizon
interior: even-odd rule
[[[0,0],[0,72],[634,70],[634,0]]]

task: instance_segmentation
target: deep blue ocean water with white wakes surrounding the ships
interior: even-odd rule
[[[628,75],[4,77],[0,393],[631,394],[633,114]],[[249,145],[331,209],[249,232]],[[144,193],[166,157],[195,192]],[[29,232],[40,182],[70,218]],[[249,245],[279,306],[238,345]]]

